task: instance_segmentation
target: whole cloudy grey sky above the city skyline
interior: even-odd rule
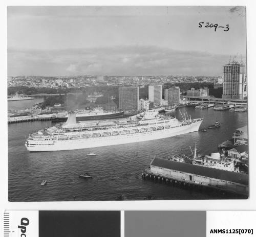
[[[243,7],[8,7],[8,75],[222,75]],[[224,28],[199,28],[199,22]]]

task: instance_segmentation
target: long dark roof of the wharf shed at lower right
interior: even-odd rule
[[[176,170],[215,179],[227,180],[244,185],[248,185],[249,182],[249,177],[247,174],[224,171],[215,168],[203,167],[201,165],[182,163],[167,159],[155,158],[151,165],[169,170]]]

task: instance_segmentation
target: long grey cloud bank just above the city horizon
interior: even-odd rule
[[[228,60],[229,55],[151,45],[49,51],[8,49],[8,75],[218,76]]]

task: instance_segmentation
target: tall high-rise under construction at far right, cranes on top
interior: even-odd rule
[[[223,99],[244,99],[247,97],[245,65],[236,61],[224,65]]]

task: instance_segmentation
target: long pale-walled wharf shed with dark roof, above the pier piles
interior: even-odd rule
[[[227,191],[248,194],[249,178],[247,174],[203,167],[201,165],[155,158],[151,162],[150,172],[160,177],[176,179],[186,183],[196,183]]]

